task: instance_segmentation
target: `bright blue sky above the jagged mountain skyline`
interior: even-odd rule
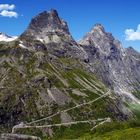
[[[0,32],[20,35],[33,16],[53,8],[68,22],[76,40],[94,24],[101,23],[124,47],[133,46],[140,51],[140,29],[136,32],[140,24],[140,0],[1,0],[0,4],[14,4],[8,11],[18,14],[4,17],[6,12],[1,10]]]

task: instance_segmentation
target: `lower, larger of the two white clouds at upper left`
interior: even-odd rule
[[[14,11],[7,11],[7,10],[3,10],[0,12],[0,15],[3,16],[3,17],[15,17],[17,18],[18,17],[18,14]]]

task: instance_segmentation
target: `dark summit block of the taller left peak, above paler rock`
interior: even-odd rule
[[[21,37],[27,38],[27,36],[32,36],[43,39],[50,34],[67,36],[72,39],[67,23],[59,17],[57,11],[54,9],[44,11],[35,16]]]

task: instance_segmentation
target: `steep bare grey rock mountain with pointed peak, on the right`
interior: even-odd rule
[[[102,25],[96,24],[79,42],[89,56],[93,72],[117,94],[132,102],[139,102],[131,92],[140,89],[140,54],[132,48],[124,49]],[[134,86],[135,85],[137,86]],[[140,103],[140,102],[139,102]]]

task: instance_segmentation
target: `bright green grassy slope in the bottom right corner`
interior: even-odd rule
[[[139,140],[139,121],[106,124],[91,133],[77,138],[78,140]]]

